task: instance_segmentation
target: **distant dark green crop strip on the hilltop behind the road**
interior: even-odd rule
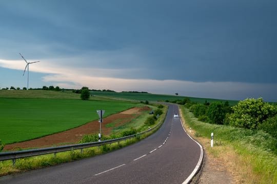
[[[192,102],[204,103],[206,100],[208,102],[215,101],[228,101],[230,105],[234,105],[238,103],[235,100],[220,100],[220,99],[207,99],[207,98],[194,98],[194,97],[183,97],[183,96],[173,96],[173,95],[156,95],[156,94],[144,94],[144,93],[115,93],[115,92],[101,92],[101,91],[91,91],[92,95],[96,96],[105,96],[110,98],[118,98],[118,99],[129,99],[129,100],[137,100],[137,101],[172,101],[172,100],[183,100],[184,98],[189,98]]]

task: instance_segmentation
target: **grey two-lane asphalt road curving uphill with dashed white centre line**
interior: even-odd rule
[[[182,183],[199,163],[201,148],[185,133],[176,105],[146,139],[104,155],[0,177],[0,183]]]

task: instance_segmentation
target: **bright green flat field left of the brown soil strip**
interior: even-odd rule
[[[21,142],[64,131],[135,106],[114,101],[0,98],[0,139]]]

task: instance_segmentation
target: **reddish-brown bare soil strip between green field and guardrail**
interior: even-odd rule
[[[114,127],[121,126],[140,115],[142,111],[150,110],[149,107],[134,107],[117,114],[113,114],[103,119],[101,132],[109,135]],[[116,122],[114,127],[107,128],[105,125]],[[4,150],[18,150],[24,148],[42,148],[64,144],[74,144],[82,139],[86,134],[98,133],[100,129],[98,120],[89,122],[77,128],[73,128],[60,133],[47,135],[38,139],[25,141],[21,143],[9,144],[4,147]]]

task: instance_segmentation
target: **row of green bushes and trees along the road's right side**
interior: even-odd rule
[[[247,98],[234,106],[230,106],[228,101],[195,103],[189,98],[175,103],[185,105],[199,121],[263,130],[277,138],[277,104],[264,102],[262,98]]]

